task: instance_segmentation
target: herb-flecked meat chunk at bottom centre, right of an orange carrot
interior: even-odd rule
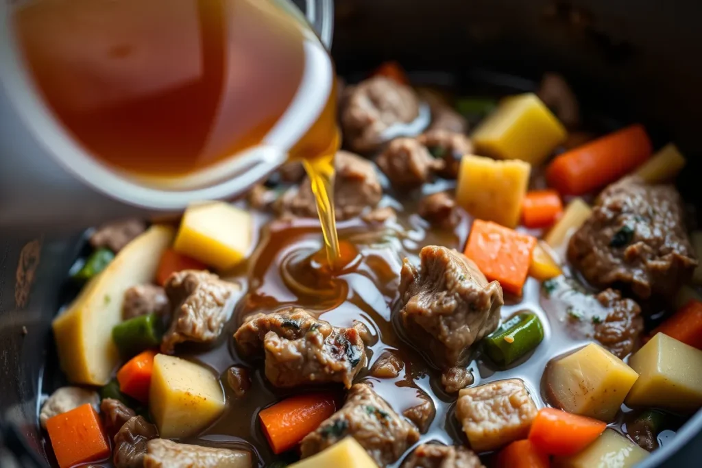
[[[367,384],[351,387],[344,406],[305,436],[300,443],[302,457],[310,457],[352,436],[378,466],[395,462],[418,441],[419,432],[390,408]]]

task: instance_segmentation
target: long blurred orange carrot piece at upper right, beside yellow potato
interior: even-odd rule
[[[586,194],[633,171],[652,152],[644,127],[629,126],[557,156],[546,169],[546,180],[561,194]]]

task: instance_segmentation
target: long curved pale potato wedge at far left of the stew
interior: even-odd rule
[[[105,385],[119,363],[112,328],[122,319],[124,291],[154,280],[173,229],[152,226],[128,243],[53,321],[61,369],[77,384]]]

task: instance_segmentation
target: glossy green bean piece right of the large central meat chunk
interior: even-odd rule
[[[522,312],[485,337],[484,349],[493,361],[508,366],[536,348],[541,340],[543,327],[538,316]]]

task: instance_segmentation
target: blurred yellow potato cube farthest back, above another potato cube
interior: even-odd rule
[[[478,154],[499,159],[542,163],[568,133],[562,123],[533,93],[500,102],[472,133]]]

